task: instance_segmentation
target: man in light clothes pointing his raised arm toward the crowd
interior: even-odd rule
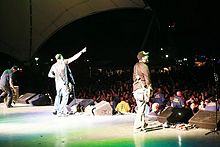
[[[70,89],[67,77],[67,65],[78,59],[84,52],[86,52],[86,47],[68,59],[64,59],[62,54],[57,54],[55,56],[57,62],[52,65],[48,73],[48,77],[55,78],[56,97],[54,102],[54,115],[68,116],[66,105],[68,102]]]

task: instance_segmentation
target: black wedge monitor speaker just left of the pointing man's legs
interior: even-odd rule
[[[37,94],[31,99],[29,99],[28,103],[32,104],[33,106],[46,106],[51,105],[51,99],[49,95]]]

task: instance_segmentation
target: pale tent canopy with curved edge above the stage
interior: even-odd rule
[[[28,61],[57,30],[80,18],[122,8],[143,8],[143,0],[2,0],[0,52]]]

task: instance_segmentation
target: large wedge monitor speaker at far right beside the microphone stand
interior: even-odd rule
[[[217,121],[217,124],[216,124]],[[189,124],[196,125],[199,128],[214,129],[220,127],[220,112],[199,110],[190,120]],[[217,126],[216,126],[217,125]]]

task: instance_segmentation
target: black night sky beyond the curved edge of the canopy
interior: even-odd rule
[[[114,10],[75,21],[56,32],[39,54],[49,58],[60,52],[70,57],[87,46],[84,59],[133,63],[155,14],[144,47],[150,51],[152,60],[159,60],[161,47],[174,58],[195,54],[219,56],[220,29],[215,4],[151,0],[149,5],[152,11]],[[172,24],[175,27],[169,28]]]

